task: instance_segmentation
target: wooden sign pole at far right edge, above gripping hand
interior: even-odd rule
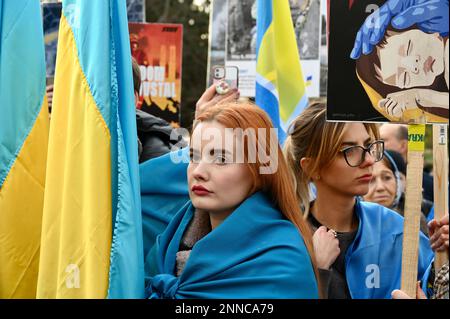
[[[447,125],[433,125],[433,183],[434,218],[442,219],[448,214],[448,148]],[[434,267],[436,273],[448,262],[448,251],[436,252]]]

